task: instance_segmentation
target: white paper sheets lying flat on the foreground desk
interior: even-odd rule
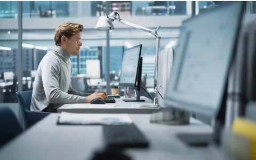
[[[61,112],[59,124],[127,124],[132,119],[127,114],[77,114]]]

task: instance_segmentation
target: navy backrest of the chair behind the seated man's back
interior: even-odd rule
[[[30,91],[21,91],[21,92],[16,92],[19,105],[23,112],[25,113],[26,111],[30,110],[30,104],[31,104],[31,99],[32,99],[32,90]]]

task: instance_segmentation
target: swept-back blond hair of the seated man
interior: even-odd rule
[[[61,37],[66,36],[67,38],[70,38],[74,34],[76,34],[78,31],[83,31],[84,26],[79,25],[77,23],[62,23],[58,28],[56,28],[54,33],[54,41],[55,45],[59,46],[61,45]]]

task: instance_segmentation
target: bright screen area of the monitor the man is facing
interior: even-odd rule
[[[139,59],[142,45],[125,49],[123,53],[122,69],[119,79],[121,86],[135,86],[139,70]]]

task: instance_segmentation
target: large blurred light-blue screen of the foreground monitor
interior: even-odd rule
[[[165,94],[166,106],[214,116],[225,91],[243,3],[223,5],[183,22]]]

